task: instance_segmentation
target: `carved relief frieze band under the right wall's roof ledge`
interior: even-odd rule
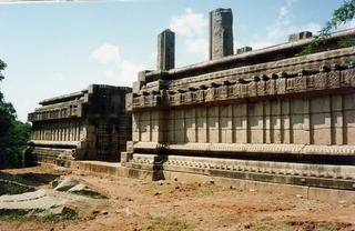
[[[189,89],[179,89],[169,91],[166,101],[162,101],[162,91],[145,91],[142,96],[133,96],[133,108],[158,107],[158,106],[182,106],[197,102],[219,101],[237,98],[252,98],[264,96],[281,96],[292,92],[310,92],[314,90],[326,90],[342,88],[355,84],[354,70],[344,69],[338,66],[331,70],[322,66],[320,73],[300,70],[287,74],[286,72],[254,76],[253,81],[240,79],[239,82],[223,81],[221,83],[210,83],[209,87],[200,86],[199,88],[189,87]],[[222,76],[214,73],[213,78]],[[165,99],[165,98],[164,98]],[[77,108],[65,108],[60,111],[62,117],[75,114]],[[51,112],[57,114],[58,112]],[[52,117],[52,116],[43,116]]]

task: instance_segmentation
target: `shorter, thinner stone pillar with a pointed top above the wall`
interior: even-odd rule
[[[158,70],[175,68],[175,33],[169,29],[158,36]]]

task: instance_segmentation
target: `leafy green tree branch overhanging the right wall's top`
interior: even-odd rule
[[[355,18],[355,0],[345,1],[344,4],[334,10],[333,18],[331,21],[327,21],[324,28],[318,31],[320,34],[315,36],[310,44],[307,44],[300,53],[296,56],[306,56],[310,54],[313,49],[320,44],[325,44],[326,39],[329,37],[329,32],[332,29],[336,29],[341,24],[345,24],[346,22],[353,20]],[[338,42],[339,47],[352,47],[355,46],[355,38],[348,37],[342,39]]]

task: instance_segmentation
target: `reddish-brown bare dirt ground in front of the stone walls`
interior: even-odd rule
[[[3,170],[40,188],[59,175],[81,178],[109,191],[109,205],[73,220],[0,221],[11,230],[355,230],[355,204],[320,202],[281,193],[241,191],[210,183],[149,182],[51,165]],[[97,199],[108,200],[108,199]]]

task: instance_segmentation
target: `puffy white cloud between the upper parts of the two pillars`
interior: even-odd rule
[[[203,36],[206,31],[209,20],[202,13],[194,13],[192,9],[185,9],[182,16],[171,19],[170,28],[176,33],[186,37]]]

